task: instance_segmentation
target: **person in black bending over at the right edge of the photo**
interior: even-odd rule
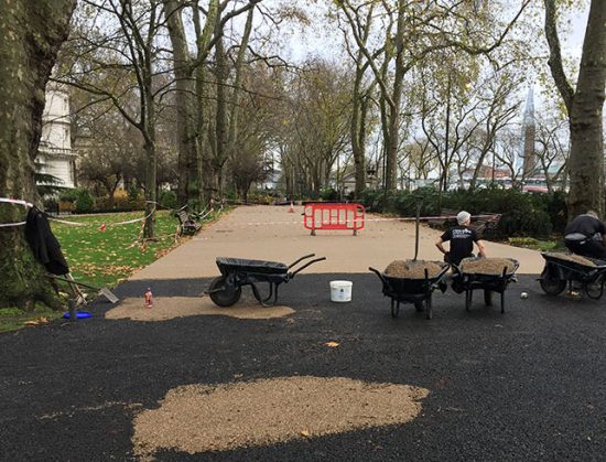
[[[564,244],[570,251],[583,257],[606,260],[606,226],[594,211],[578,215],[564,229]]]

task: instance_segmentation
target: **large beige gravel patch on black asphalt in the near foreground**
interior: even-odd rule
[[[421,412],[425,388],[350,378],[280,377],[170,390],[134,418],[136,454],[269,445],[354,429],[401,425]]]

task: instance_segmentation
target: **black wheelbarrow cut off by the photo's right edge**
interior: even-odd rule
[[[558,296],[569,286],[570,292],[577,288],[591,299],[602,298],[606,279],[606,261],[587,257],[574,260],[574,257],[569,254],[542,253],[541,255],[545,259],[545,267],[539,283],[548,296]],[[583,260],[588,261],[585,264]]]

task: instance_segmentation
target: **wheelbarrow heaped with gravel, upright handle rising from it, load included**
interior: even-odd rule
[[[425,318],[431,320],[433,291],[446,289],[443,278],[450,267],[443,261],[396,260],[383,272],[368,269],[381,280],[383,296],[391,299],[392,318],[398,318],[400,303],[413,303],[416,311],[424,309]]]

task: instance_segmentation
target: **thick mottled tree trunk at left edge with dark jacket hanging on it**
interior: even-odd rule
[[[74,0],[0,0],[0,196],[35,198],[34,159],[44,88],[67,37]],[[0,203],[0,223],[21,222],[24,207]],[[0,307],[56,304],[23,226],[0,228]]]

